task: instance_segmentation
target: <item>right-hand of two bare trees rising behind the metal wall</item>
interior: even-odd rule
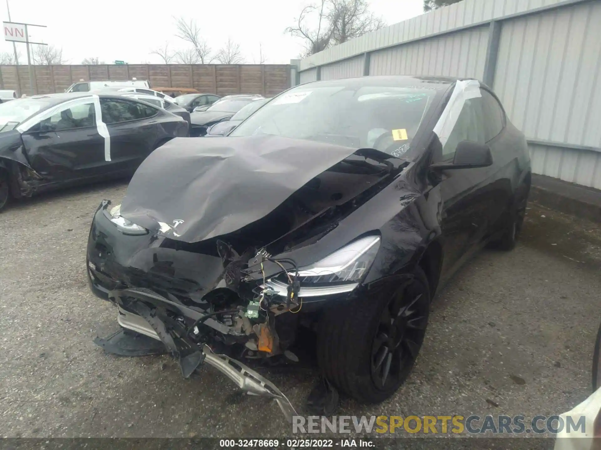
[[[341,44],[385,26],[380,17],[369,11],[366,0],[329,1],[331,8],[326,17],[332,28],[334,44]]]

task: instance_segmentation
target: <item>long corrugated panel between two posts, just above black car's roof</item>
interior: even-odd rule
[[[371,54],[370,75],[440,75],[480,78],[488,26],[466,29]]]

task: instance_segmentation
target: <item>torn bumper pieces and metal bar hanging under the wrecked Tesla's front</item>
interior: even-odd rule
[[[186,328],[171,313],[182,314],[189,320],[201,319],[204,314],[183,305],[169,301],[155,292],[146,289],[115,289],[108,293],[109,299],[117,304],[117,321],[124,328],[162,341],[172,356],[179,359],[184,377],[206,362],[224,373],[249,395],[273,398],[284,413],[288,422],[297,415],[288,398],[272,382],[227,355],[214,353],[206,344],[200,347],[186,335]],[[136,314],[128,310],[136,311]],[[215,322],[214,324],[210,322]],[[204,323],[218,328],[218,321],[207,318]],[[227,331],[227,327],[225,328]]]

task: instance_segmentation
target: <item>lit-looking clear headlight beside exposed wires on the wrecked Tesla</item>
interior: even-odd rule
[[[379,248],[380,236],[357,239],[324,259],[300,268],[301,283],[361,281],[374,262]]]

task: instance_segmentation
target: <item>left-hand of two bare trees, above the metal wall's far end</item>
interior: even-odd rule
[[[328,48],[334,30],[326,17],[329,0],[322,0],[321,5],[309,5],[301,11],[296,26],[288,26],[285,32],[292,36],[305,39],[305,52],[302,56],[313,55]],[[317,14],[317,29],[312,28],[307,22]]]

